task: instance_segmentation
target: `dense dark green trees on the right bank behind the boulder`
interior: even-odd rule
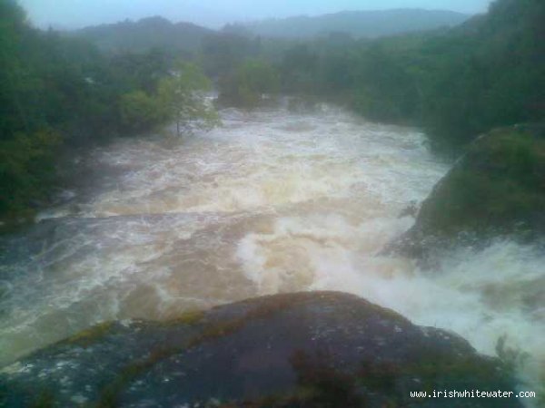
[[[321,38],[284,52],[282,90],[341,101],[461,148],[492,128],[545,121],[545,3],[497,0],[451,30],[373,41]]]

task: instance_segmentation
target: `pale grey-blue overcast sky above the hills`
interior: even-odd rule
[[[462,13],[486,11],[491,0],[19,0],[41,27],[76,28],[163,15],[173,21],[219,27],[235,21],[342,10],[427,8]]]

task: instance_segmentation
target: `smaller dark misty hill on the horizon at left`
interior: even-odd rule
[[[213,34],[208,28],[191,23],[173,24],[163,17],[144,18],[101,24],[73,32],[96,44],[105,52],[141,52],[161,48],[171,52],[193,52],[201,47],[203,38]]]

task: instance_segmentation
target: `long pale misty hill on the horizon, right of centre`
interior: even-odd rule
[[[278,38],[310,38],[331,32],[343,32],[354,37],[380,37],[454,26],[468,18],[469,15],[451,11],[399,9],[270,19],[245,26],[253,34]]]

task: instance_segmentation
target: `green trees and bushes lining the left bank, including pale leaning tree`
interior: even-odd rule
[[[81,38],[31,27],[15,1],[0,0],[0,15],[2,219],[29,218],[47,201],[60,151],[173,117],[213,119],[196,95],[209,86],[203,75],[186,67],[168,78],[172,57],[159,49],[104,55]]]

